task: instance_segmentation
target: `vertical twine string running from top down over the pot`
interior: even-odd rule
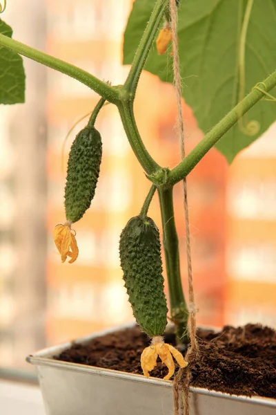
[[[176,0],[170,0],[170,26],[172,30],[172,50],[173,50],[173,73],[175,84],[175,95],[177,98],[177,131],[179,134],[179,142],[181,149],[181,158],[185,158],[185,136],[184,136],[184,122],[181,106],[181,76],[179,67],[179,50],[178,50],[178,38],[177,38],[177,3]],[[185,360],[188,362],[191,354],[196,356],[198,353],[197,344],[197,323],[196,323],[196,308],[195,308],[195,295],[193,290],[193,269],[192,269],[192,257],[190,250],[190,223],[189,223],[189,210],[188,210],[188,190],[186,177],[183,180],[184,187],[184,212],[185,212],[185,225],[186,225],[186,252],[187,252],[187,265],[188,265],[188,294],[189,294],[189,322],[188,333],[190,337],[190,348],[188,349]],[[179,369],[179,374],[175,378],[174,384],[174,403],[175,403],[175,415],[179,414],[179,389],[181,390],[181,396],[184,400],[184,414],[189,414],[189,383],[190,383],[190,370],[186,369],[186,376],[184,380],[181,379],[183,370]],[[183,382],[183,385],[181,385]]]

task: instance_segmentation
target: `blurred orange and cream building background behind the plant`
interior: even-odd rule
[[[15,39],[121,84],[128,73],[121,65],[122,35],[131,3],[14,0],[3,19]],[[119,268],[119,234],[139,212],[149,183],[117,109],[104,107],[96,124],[103,138],[96,196],[75,224],[78,260],[61,264],[52,231],[65,219],[68,151],[86,120],[70,134],[63,163],[62,145],[98,97],[66,75],[28,59],[24,64],[26,104],[0,109],[0,367],[30,369],[24,358],[35,349],[132,320]],[[172,86],[144,73],[135,113],[150,154],[161,165],[176,165]],[[184,116],[190,151],[203,134],[186,106]],[[188,176],[198,324],[276,326],[275,131],[276,125],[230,167],[212,149]],[[186,288],[181,183],[175,187],[175,214]],[[150,216],[161,229],[157,196]]]

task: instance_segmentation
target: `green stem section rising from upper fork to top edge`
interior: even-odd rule
[[[132,91],[134,94],[137,89],[141,71],[146,64],[148,53],[152,47],[152,43],[155,39],[157,30],[160,27],[166,8],[168,8],[168,0],[157,0],[148,21],[148,26],[146,27],[141,42],[136,50],[130,72],[128,73],[128,77],[124,84],[124,89]]]

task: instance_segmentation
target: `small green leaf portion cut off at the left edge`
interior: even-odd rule
[[[12,37],[12,28],[0,19],[0,33]],[[0,104],[25,102],[25,72],[21,56],[0,46]]]

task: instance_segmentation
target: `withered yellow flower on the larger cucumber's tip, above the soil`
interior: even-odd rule
[[[168,367],[168,374],[164,377],[164,380],[169,380],[175,373],[175,363],[172,356],[175,358],[180,367],[186,367],[188,362],[184,360],[180,351],[172,347],[170,344],[164,343],[161,336],[152,338],[152,344],[144,349],[141,354],[141,367],[144,375],[148,378],[150,375],[149,371],[155,368],[157,365],[157,357],[161,359],[162,363]]]

